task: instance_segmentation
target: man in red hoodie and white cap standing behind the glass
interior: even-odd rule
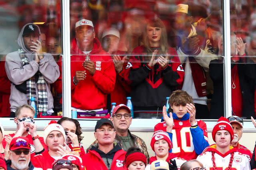
[[[111,57],[95,37],[92,21],[76,22],[76,42],[71,54],[72,109],[102,110],[107,94],[114,90],[116,72]]]

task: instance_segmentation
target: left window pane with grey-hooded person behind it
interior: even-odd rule
[[[62,87],[56,84],[62,63],[60,0],[4,0],[0,12],[0,117],[15,117],[33,98],[37,117],[57,115],[62,110]]]

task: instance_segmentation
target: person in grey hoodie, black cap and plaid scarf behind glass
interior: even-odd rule
[[[11,117],[16,109],[30,104],[34,97],[40,113],[53,113],[50,84],[60,76],[54,58],[42,51],[40,29],[34,23],[24,25],[18,36],[18,51],[6,55],[5,70],[11,84]]]

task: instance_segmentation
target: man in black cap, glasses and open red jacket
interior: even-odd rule
[[[126,170],[123,165],[126,152],[114,143],[115,136],[112,121],[106,118],[97,121],[94,137],[98,146],[92,146],[85,155],[86,170]]]

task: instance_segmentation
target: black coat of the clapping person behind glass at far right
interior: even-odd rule
[[[255,64],[248,60],[246,63],[238,61],[238,75],[240,88],[242,92],[242,116],[250,118],[254,116],[254,90],[256,80]],[[231,68],[235,63],[231,64]],[[209,65],[210,77],[213,81],[214,94],[212,95],[210,115],[211,119],[217,119],[224,115],[224,79],[223,79],[223,63],[221,60],[212,60]]]

